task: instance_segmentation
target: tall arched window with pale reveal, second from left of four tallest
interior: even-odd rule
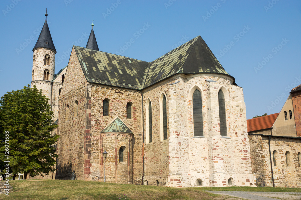
[[[167,139],[167,104],[166,104],[166,95],[161,94],[159,99],[160,107],[160,140]]]

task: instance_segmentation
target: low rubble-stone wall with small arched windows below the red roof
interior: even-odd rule
[[[250,135],[252,171],[263,174],[266,186],[272,187],[272,173],[270,154],[268,148],[268,136]],[[301,138],[273,137],[270,142],[273,176],[275,187],[301,187],[301,160],[298,153],[301,153]],[[276,166],[273,162],[275,154]],[[286,152],[288,155],[288,166]]]

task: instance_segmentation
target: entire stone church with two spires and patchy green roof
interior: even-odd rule
[[[110,183],[255,186],[243,89],[202,37],[148,62],[100,51],[92,23],[86,47],[73,46],[55,74],[45,15],[31,85],[58,124],[56,179],[74,170]]]

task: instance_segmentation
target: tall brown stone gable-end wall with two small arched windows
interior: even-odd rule
[[[78,180],[84,180],[84,135],[86,120],[87,82],[74,49],[61,89],[58,111],[57,174],[56,179],[70,179],[75,170]],[[74,116],[74,102],[78,101],[78,115]],[[69,118],[66,119],[66,106]]]

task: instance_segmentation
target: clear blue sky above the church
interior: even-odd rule
[[[85,47],[94,20],[101,51],[143,61],[200,35],[244,88],[248,119],[280,112],[301,84],[301,1],[2,0],[0,8],[0,96],[30,84],[45,8],[55,73],[68,64],[73,44]]]

